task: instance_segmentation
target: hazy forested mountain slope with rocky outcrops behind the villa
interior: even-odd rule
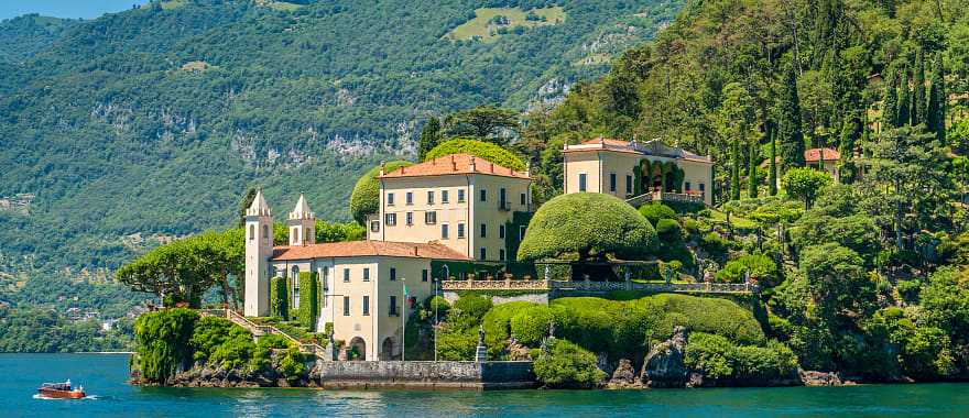
[[[252,185],[277,217],[302,190],[347,219],[357,174],[410,155],[427,116],[556,100],[681,3],[556,2],[563,20],[477,42],[447,36],[469,0],[164,1],[0,46],[0,199],[35,195],[0,210],[0,252],[110,270],[139,251],[121,237],[226,226]]]

